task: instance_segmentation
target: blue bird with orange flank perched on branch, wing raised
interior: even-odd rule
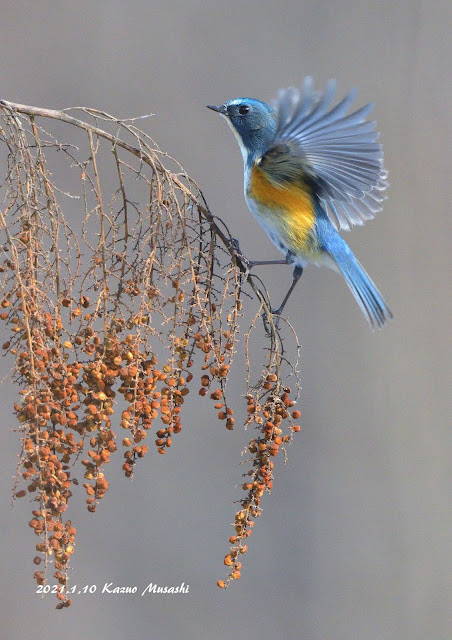
[[[334,107],[336,83],[314,92],[307,77],[301,91],[282,89],[273,105],[254,98],[208,105],[228,121],[244,162],[245,200],[284,260],[293,264],[292,284],[280,315],[307,263],[325,265],[345,278],[373,328],[392,318],[381,293],[339,235],[382,209],[387,172],[368,104],[347,115],[352,90]]]

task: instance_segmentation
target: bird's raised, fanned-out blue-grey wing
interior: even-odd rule
[[[373,105],[347,115],[355,90],[331,108],[335,81],[323,93],[313,89],[307,77],[301,91],[279,92],[274,143],[260,164],[275,182],[312,177],[336,228],[362,225],[382,209],[388,186],[376,123],[366,120]]]

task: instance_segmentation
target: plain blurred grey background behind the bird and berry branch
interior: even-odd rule
[[[320,87],[337,78],[340,94],[358,86],[359,104],[376,102],[391,187],[383,213],[346,239],[395,316],[373,334],[336,274],[303,276],[287,307],[303,343],[303,432],[227,592],[215,583],[240,426],[226,431],[193,398],[170,454],[152,451],[132,482],[113,457],[98,512],[70,507],[72,584],[184,581],[189,594],[80,595],[59,612],[35,594],[31,507],[10,509],[15,389],[0,388],[3,637],[449,638],[450,0],[16,0],[0,19],[1,98],[155,113],[152,137],[253,258],[274,250],[243,201],[237,143],[205,105],[270,99],[307,74]],[[260,273],[279,300],[290,269]]]

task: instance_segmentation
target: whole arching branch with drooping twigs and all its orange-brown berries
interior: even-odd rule
[[[260,515],[262,495],[272,486],[273,459],[299,430],[292,425],[299,412],[290,412],[294,400],[284,382],[287,376],[297,380],[297,362],[287,357],[265,286],[249,273],[196,183],[136,127],[137,119],[79,108],[93,124],[69,111],[0,101],[6,165],[0,182],[0,319],[8,332],[3,349],[14,356],[20,388],[14,409],[20,471],[28,484],[15,488],[15,495],[32,496],[30,526],[41,538],[34,562],[39,565],[43,556],[47,567],[53,561],[58,607],[68,606],[76,532],[64,514],[80,472],[89,511],[105,495],[104,467],[118,447],[114,420],[123,429],[123,470],[131,476],[148,451],[150,430],[155,428],[160,454],[172,446],[198,367],[198,394],[213,400],[218,418],[233,429],[226,386],[246,283],[258,309],[244,332],[245,424],[258,434],[247,447],[250,478],[242,485],[246,494],[225,558],[229,577],[218,582],[225,587],[240,576],[252,518]],[[80,148],[57,141],[40,126],[43,118],[76,127],[87,141]],[[70,189],[54,178],[63,165],[72,176]],[[114,187],[106,187],[112,179]],[[268,332],[259,333],[266,346],[256,375],[250,340],[261,314]],[[295,333],[283,323],[287,327],[285,339],[298,354]],[[46,572],[37,570],[35,579],[43,584]]]

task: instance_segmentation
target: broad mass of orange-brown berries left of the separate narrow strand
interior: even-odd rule
[[[223,332],[222,353],[215,332],[206,339],[187,329],[183,337],[174,338],[175,357],[160,369],[156,354],[151,353],[139,333],[121,337],[110,331],[102,341],[90,325],[72,329],[70,321],[66,325],[61,319],[53,322],[47,312],[42,318],[39,314],[24,316],[22,300],[20,296],[15,298],[14,306],[4,299],[3,308],[8,308],[9,313],[2,316],[12,331],[3,348],[16,356],[15,379],[22,389],[22,401],[14,408],[23,434],[21,467],[27,488],[15,495],[36,495],[40,509],[33,510],[30,521],[30,527],[42,538],[36,550],[43,555],[46,566],[53,556],[54,577],[64,586],[74,551],[75,529],[70,521],[64,522],[62,514],[72,496],[73,484],[78,484],[72,474],[80,453],[86,451],[86,457],[81,459],[83,486],[87,508],[94,512],[108,489],[103,466],[117,449],[112,425],[117,405],[124,407],[117,423],[128,432],[122,440],[126,447],[123,470],[131,476],[136,459],[148,451],[143,441],[154,421],[157,420],[155,444],[161,454],[171,446],[172,435],[182,429],[181,409],[193,380],[192,373],[183,375],[193,366],[190,354],[199,349],[207,361],[200,374],[201,391],[212,380],[225,382],[232,352],[230,331]],[[86,315],[88,312],[85,318]],[[72,312],[70,318],[74,317],[84,316],[74,316]],[[68,336],[71,329],[70,339],[63,341],[63,330]],[[215,353],[220,354],[218,358]],[[210,364],[217,359],[219,366]],[[223,397],[223,391],[212,393],[212,397]],[[230,414],[232,410],[228,409],[228,428],[233,424]],[[39,556],[34,558],[35,564],[41,561]],[[42,571],[35,572],[39,584],[44,576]],[[64,593],[58,597],[62,599],[58,606],[67,606],[69,600]]]

